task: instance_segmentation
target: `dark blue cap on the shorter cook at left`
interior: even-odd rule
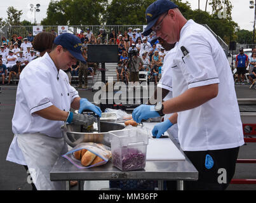
[[[54,44],[61,45],[65,49],[67,49],[74,58],[80,60],[82,62],[86,62],[82,56],[82,43],[79,37],[74,36],[70,33],[63,33],[57,36],[54,41]]]

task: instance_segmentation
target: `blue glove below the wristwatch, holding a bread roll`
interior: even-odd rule
[[[133,120],[136,122],[141,122],[142,119],[150,119],[154,117],[159,117],[160,115],[158,112],[154,110],[154,105],[140,105],[139,107],[135,108],[132,112]]]

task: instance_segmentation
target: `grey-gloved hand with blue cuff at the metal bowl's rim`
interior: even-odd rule
[[[66,122],[74,123],[75,125],[84,125],[85,128],[93,125],[93,122],[97,122],[97,118],[88,114],[74,114],[69,112]]]

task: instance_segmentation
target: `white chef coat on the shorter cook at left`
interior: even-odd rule
[[[20,74],[12,119],[13,133],[41,133],[62,138],[60,126],[64,121],[50,121],[34,113],[51,105],[68,112],[78,96],[69,84],[67,74],[63,70],[57,71],[48,53],[32,60]]]

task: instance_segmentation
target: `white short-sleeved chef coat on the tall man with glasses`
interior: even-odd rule
[[[194,65],[184,63],[181,46],[189,51]],[[243,145],[234,79],[226,55],[210,31],[193,20],[185,23],[173,63],[173,97],[190,88],[219,84],[217,97],[178,113],[182,150],[220,150]]]

